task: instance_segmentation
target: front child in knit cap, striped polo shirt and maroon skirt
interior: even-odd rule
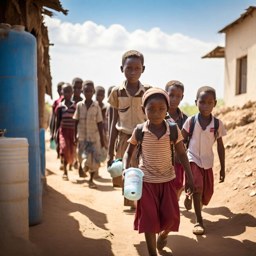
[[[173,179],[175,171],[172,165],[170,129],[164,119],[169,110],[169,97],[166,91],[151,88],[142,98],[141,108],[146,114],[144,139],[142,141],[139,168],[144,173],[141,199],[137,201],[134,229],[145,233],[149,255],[157,256],[156,248],[162,250],[167,243],[168,233],[178,231],[180,210]],[[128,139],[129,146],[123,159],[123,179],[129,167],[132,153],[137,147],[136,130]],[[182,135],[177,128],[178,138],[174,143],[180,162],[188,176],[188,191],[193,193],[193,176],[182,144]],[[157,243],[156,243],[156,236]]]

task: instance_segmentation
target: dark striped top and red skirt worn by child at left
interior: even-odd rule
[[[67,107],[65,101],[58,104],[61,111],[61,124],[59,128],[60,155],[67,164],[72,164],[76,157],[76,146],[74,146],[74,112],[76,103]]]

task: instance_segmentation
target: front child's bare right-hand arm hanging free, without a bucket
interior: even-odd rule
[[[186,176],[188,177],[187,191],[188,191],[188,194],[191,195],[194,191],[194,180],[193,180],[193,175],[192,175],[190,164],[189,164],[189,159],[188,159],[188,157],[186,155],[186,151],[182,145],[182,141],[179,141],[175,145],[175,150],[178,153],[180,163],[182,164],[182,167],[186,173]]]

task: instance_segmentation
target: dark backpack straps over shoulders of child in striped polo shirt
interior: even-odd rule
[[[144,137],[144,132],[142,132],[142,128],[145,123],[143,124],[138,124],[137,125],[137,130],[136,130],[136,139],[137,139],[137,154],[136,158],[138,159],[138,164],[139,164],[139,156],[141,155],[141,144],[143,141]],[[176,141],[178,138],[178,130],[177,130],[177,125],[172,122],[168,121],[169,128],[170,128],[170,141]],[[174,144],[171,143],[171,151],[172,151],[172,165],[174,166]]]

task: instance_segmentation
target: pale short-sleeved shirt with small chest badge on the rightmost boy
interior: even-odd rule
[[[186,130],[186,132],[189,132],[191,118],[192,117],[189,117],[183,125],[183,129]],[[217,139],[225,135],[227,135],[227,132],[222,121],[219,120]],[[204,169],[212,168],[214,160],[212,147],[214,141],[215,137],[213,115],[211,115],[211,123],[206,127],[205,130],[203,130],[199,122],[199,115],[197,114],[195,118],[193,135],[189,141],[189,148],[187,150],[189,162],[194,162],[199,167]]]

